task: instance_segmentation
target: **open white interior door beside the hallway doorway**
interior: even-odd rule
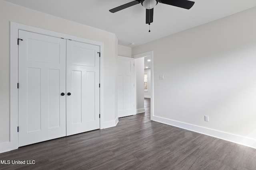
[[[118,56],[118,117],[134,114],[134,59]]]

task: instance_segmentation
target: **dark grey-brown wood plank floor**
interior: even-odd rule
[[[0,154],[0,160],[35,164],[0,169],[256,170],[256,150],[150,121],[146,113],[119,119],[116,127],[37,143]]]

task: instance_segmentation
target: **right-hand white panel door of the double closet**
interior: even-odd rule
[[[67,40],[67,136],[100,128],[100,47]]]

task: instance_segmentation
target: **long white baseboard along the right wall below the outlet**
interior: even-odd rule
[[[238,136],[238,135],[234,135],[234,134],[230,134],[230,133],[226,133],[226,132],[222,132],[222,131],[217,131],[214,129],[208,129],[205,127],[200,127],[200,126],[191,125],[188,123],[174,121],[171,119],[166,119],[166,118],[162,118],[162,117],[158,117],[158,116],[153,116],[153,121],[157,121],[157,122],[164,123],[167,125],[179,127],[179,128],[186,129],[189,131],[194,131],[197,133],[201,133],[201,134],[208,135],[211,137],[216,137],[219,139],[223,139],[225,141],[237,143],[240,145],[244,145],[246,147],[251,147],[251,148],[256,149],[256,140],[255,139],[250,139],[247,137],[242,137],[242,136]]]

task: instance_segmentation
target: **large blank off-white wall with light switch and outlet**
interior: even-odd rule
[[[132,48],[154,51],[158,121],[256,147],[255,16],[256,7]]]

